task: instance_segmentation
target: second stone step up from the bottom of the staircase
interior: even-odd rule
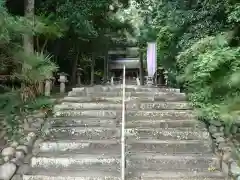
[[[203,172],[215,165],[217,159],[205,154],[160,155],[155,153],[126,154],[127,172],[141,170],[185,170]],[[72,153],[39,153],[31,160],[36,168],[64,168],[74,170],[119,171],[121,154],[72,154]]]

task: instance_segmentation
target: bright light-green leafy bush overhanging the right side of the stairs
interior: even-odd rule
[[[200,118],[234,121],[240,102],[240,47],[229,33],[201,39],[177,57],[178,81]]]

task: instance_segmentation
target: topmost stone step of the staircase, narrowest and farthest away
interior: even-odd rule
[[[136,85],[126,85],[126,92],[180,92],[180,89],[174,88],[158,88],[158,87],[145,87]],[[94,87],[83,87],[83,88],[73,88],[73,92],[119,92],[122,91],[122,85],[114,86],[94,86]]]

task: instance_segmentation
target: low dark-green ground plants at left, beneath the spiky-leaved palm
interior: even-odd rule
[[[22,91],[13,90],[0,95],[0,109],[3,114],[3,127],[11,139],[16,139],[26,125],[26,116],[39,109],[52,109],[53,102],[44,97],[22,100]]]

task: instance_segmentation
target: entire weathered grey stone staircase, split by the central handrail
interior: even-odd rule
[[[120,180],[121,86],[74,88],[24,180]],[[127,86],[126,180],[223,180],[209,133],[178,89]]]

